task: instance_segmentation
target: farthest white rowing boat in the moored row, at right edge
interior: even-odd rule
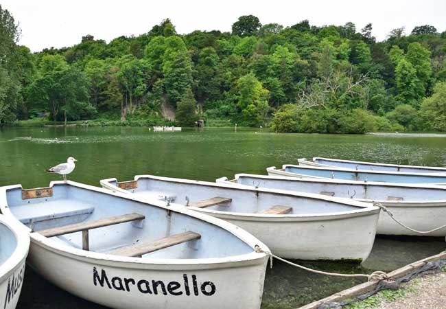
[[[446,174],[446,168],[438,168],[434,166],[374,163],[374,162],[363,162],[363,161],[328,159],[320,157],[314,157],[311,160],[302,158],[298,159],[297,161],[299,165],[316,166],[319,168],[350,168],[351,170],[377,170],[377,171],[388,171],[388,172]]]

